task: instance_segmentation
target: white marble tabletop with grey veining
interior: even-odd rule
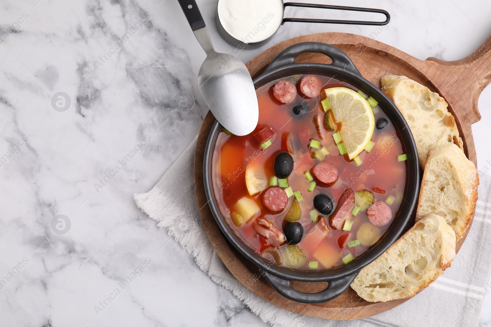
[[[198,0],[216,49],[226,52],[235,47],[218,35],[216,3]],[[455,60],[491,32],[489,1],[374,5],[392,13],[381,33],[373,34],[374,26],[286,23],[269,44],[239,57],[247,61],[291,37],[342,31],[375,35],[420,59]],[[298,8],[286,14],[293,12],[342,18]],[[269,326],[200,271],[133,201],[188,146],[208,110],[196,82],[205,54],[177,1],[1,1],[0,31],[0,157],[7,154],[0,167],[0,279],[7,277],[0,280],[0,325]],[[194,98],[188,112],[175,101],[183,94]],[[487,88],[482,120],[473,126],[480,170],[491,168],[490,103]],[[68,233],[52,227],[57,215],[68,217]],[[136,278],[122,287],[131,274]],[[491,325],[490,311],[488,295],[482,326]]]

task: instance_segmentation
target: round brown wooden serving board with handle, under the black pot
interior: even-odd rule
[[[457,121],[460,135],[464,141],[465,153],[476,164],[471,124],[481,119],[477,101],[481,91],[491,81],[491,36],[468,57],[457,61],[442,61],[433,57],[419,60],[386,44],[355,34],[318,33],[305,35],[281,42],[250,60],[246,66],[252,77],[261,75],[280,51],[300,42],[324,42],[340,48],[349,55],[361,75],[379,87],[383,75],[406,75],[437,92],[449,103],[448,109]],[[323,54],[304,53],[297,57],[297,62],[328,64],[331,60]],[[276,293],[266,279],[259,276],[258,268],[224,238],[207,205],[203,188],[203,154],[214,121],[215,118],[211,112],[208,112],[198,135],[194,159],[196,199],[198,207],[201,208],[200,214],[203,225],[215,250],[225,266],[240,282],[263,299],[282,308],[307,316],[326,319],[349,320],[370,317],[409,300],[366,302],[358,297],[355,291],[348,288],[341,296],[332,301],[305,304],[290,301]],[[467,231],[469,229],[470,227]],[[457,251],[462,246],[465,236],[459,240]],[[310,293],[319,292],[326,285],[326,282],[292,282],[292,287]]]

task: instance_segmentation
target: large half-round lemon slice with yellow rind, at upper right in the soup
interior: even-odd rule
[[[324,93],[329,99],[334,120],[341,125],[338,131],[351,160],[365,149],[372,138],[375,127],[372,108],[365,98],[346,87],[332,87],[325,89]]]

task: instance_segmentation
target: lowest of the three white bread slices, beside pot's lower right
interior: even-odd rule
[[[450,267],[454,256],[454,230],[430,214],[363,268],[351,287],[368,302],[409,298]]]

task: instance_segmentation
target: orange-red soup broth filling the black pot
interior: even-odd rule
[[[286,78],[300,79],[303,75],[288,76]],[[327,76],[316,75],[325,85],[323,89],[330,87],[343,86],[355,91],[357,88],[344,81],[336,80]],[[392,198],[393,203],[390,205],[392,218],[397,219],[399,207],[403,201],[403,194],[406,182],[406,162],[398,161],[397,156],[404,153],[401,142],[397,136],[396,130],[387,116],[377,105],[373,111],[375,121],[383,117],[388,121],[387,126],[383,129],[375,127],[372,141],[375,142],[370,152],[362,151],[359,158],[362,164],[356,166],[355,162],[347,160],[347,157],[339,154],[339,151],[333,141],[332,133],[326,131],[324,140],[317,135],[313,124],[315,114],[324,117],[324,111],[319,105],[320,97],[313,99],[304,99],[297,95],[295,101],[288,104],[281,104],[273,98],[271,88],[278,80],[272,81],[257,89],[257,98],[259,102],[259,125],[268,125],[274,132],[272,145],[262,150],[252,134],[246,136],[228,135],[220,132],[213,153],[213,187],[215,196],[218,200],[219,208],[227,223],[232,227],[240,239],[255,252],[261,255],[261,252],[270,247],[268,241],[261,237],[253,227],[253,221],[259,217],[266,218],[276,228],[283,231],[286,222],[284,217],[295,197],[288,200],[286,208],[279,212],[269,211],[263,204],[263,190],[259,194],[249,196],[245,183],[245,171],[247,166],[253,165],[254,168],[266,176],[266,189],[269,187],[270,177],[274,176],[273,164],[274,159],[281,149],[281,138],[285,131],[293,136],[295,153],[292,154],[294,169],[288,176],[288,183],[293,191],[300,191],[303,201],[300,203],[301,217],[298,222],[303,228],[303,236],[298,246],[306,255],[305,264],[297,269],[309,270],[308,262],[318,262],[318,270],[330,269],[343,265],[342,258],[351,253],[354,257],[367,251],[369,246],[380,238],[380,235],[387,230],[390,223],[385,226],[373,226],[368,219],[365,211],[360,211],[356,216],[350,213],[346,219],[353,221],[350,231],[341,229],[332,229],[329,226],[329,233],[324,237],[319,233],[318,224],[311,222],[310,210],[314,209],[313,199],[317,194],[323,193],[332,199],[333,209],[336,208],[337,201],[340,199],[343,191],[351,188],[354,192],[369,190],[373,193],[375,201],[386,201]],[[303,104],[310,112],[303,115],[295,115],[293,108]],[[322,161],[313,158],[309,153],[310,139],[318,140],[327,148],[329,155]],[[309,182],[304,176],[304,172],[311,170],[314,165],[320,165],[337,171],[338,179],[331,187],[316,186],[312,192],[308,191]],[[373,191],[385,191],[384,194]],[[256,215],[247,223],[241,226],[234,225],[231,219],[231,213],[234,210],[236,202],[246,197],[254,201],[259,207]],[[323,215],[326,222],[328,215]],[[327,223],[328,225],[328,223]],[[364,227],[362,227],[365,225]],[[339,238],[347,237],[346,242],[351,242],[365,235],[366,229],[372,230],[377,236],[372,237],[373,242],[370,245],[357,245],[351,248],[344,246],[340,248]],[[375,232],[374,232],[375,230]],[[360,234],[357,234],[358,231]],[[321,236],[319,236],[321,235]],[[344,236],[348,235],[348,236]],[[341,242],[342,243],[342,242]],[[367,243],[365,241],[365,243]],[[279,247],[279,251],[284,251],[286,244]],[[264,257],[273,260],[271,254],[263,254]]]

